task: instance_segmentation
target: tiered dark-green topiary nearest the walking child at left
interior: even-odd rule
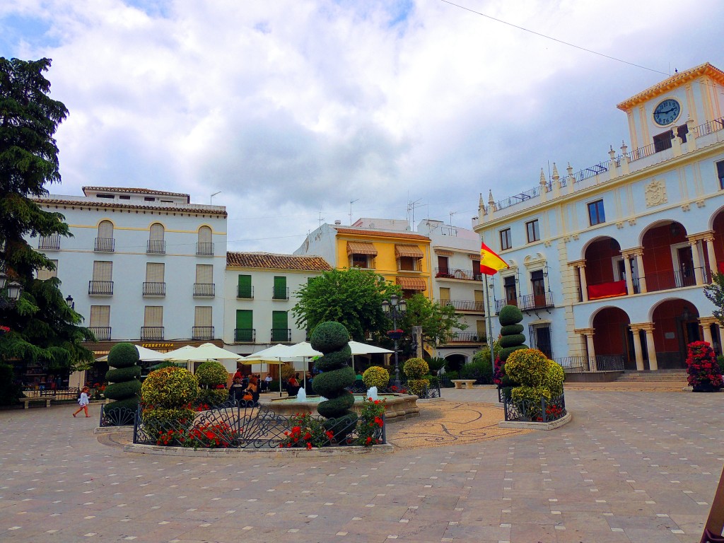
[[[138,350],[131,343],[117,343],[108,353],[106,387],[104,395],[113,402],[104,406],[105,413],[119,411],[123,408],[135,411],[138,409],[140,396],[140,366],[138,366]]]

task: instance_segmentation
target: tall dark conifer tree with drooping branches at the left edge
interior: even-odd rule
[[[54,266],[25,239],[70,235],[62,214],[33,201],[48,194],[46,183],[61,180],[54,134],[68,111],[48,96],[43,72],[50,63],[0,57],[0,267],[22,286],[17,303],[0,309],[0,324],[10,328],[0,338],[0,358],[59,371],[93,361],[81,345],[93,334],[79,326],[83,317],[68,307],[57,278],[35,279],[38,269]]]

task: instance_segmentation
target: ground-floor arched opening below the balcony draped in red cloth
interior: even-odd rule
[[[596,313],[593,319],[593,345],[599,370],[616,367],[615,363],[622,359],[624,369],[636,369],[630,324],[628,314],[620,308],[606,307]]]

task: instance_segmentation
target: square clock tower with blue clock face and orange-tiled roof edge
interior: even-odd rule
[[[628,116],[631,148],[671,147],[694,127],[724,122],[724,72],[708,62],[678,72],[618,104]],[[707,130],[708,131],[708,130]]]

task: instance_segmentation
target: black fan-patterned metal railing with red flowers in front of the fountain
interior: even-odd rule
[[[316,436],[315,446],[331,447],[339,445],[361,445],[359,427],[350,429],[344,418],[325,419],[309,416],[310,426],[316,428],[324,424],[333,428],[334,434],[344,435],[337,441],[335,437],[323,432]],[[279,449],[303,446],[303,436],[295,442],[295,425],[298,421],[277,415],[266,407],[251,407],[237,402],[227,402],[206,411],[195,412],[193,418],[183,420],[158,420],[146,418],[137,411],[133,425],[133,442],[142,445],[164,445],[167,447],[199,448],[237,448],[237,449]],[[376,444],[387,442],[384,428],[375,429]]]

